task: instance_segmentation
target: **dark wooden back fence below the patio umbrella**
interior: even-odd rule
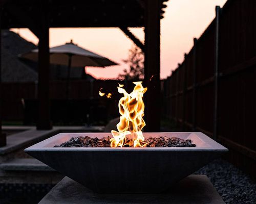
[[[90,113],[98,119],[105,115],[106,119],[112,119],[119,116],[118,100],[121,96],[117,92],[118,83],[124,82],[116,80],[96,80],[84,81],[75,80],[70,82],[69,106],[72,114],[67,117],[69,120],[75,118],[83,120]],[[125,88],[129,91],[133,89],[132,83],[125,83]],[[100,97],[99,89],[104,92],[111,92],[112,98]],[[37,117],[37,84],[36,83],[3,83],[2,84],[2,117],[3,120],[24,121],[26,124],[36,122]],[[66,82],[52,81],[50,84],[51,97],[51,115],[52,120],[58,121],[61,117],[66,117],[63,112],[67,112]],[[77,109],[77,111],[75,110]],[[100,113],[98,113],[101,111]],[[80,117],[80,118],[79,118]],[[95,118],[95,121],[97,118]]]

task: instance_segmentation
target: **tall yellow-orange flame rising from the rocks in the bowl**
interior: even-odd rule
[[[111,131],[113,138],[111,138],[111,147],[122,147],[124,145],[134,147],[144,147],[141,145],[144,141],[142,129],[146,125],[143,120],[144,103],[143,94],[147,88],[143,88],[142,82],[134,82],[136,85],[132,93],[127,93],[123,88],[117,87],[118,92],[123,94],[119,100],[120,121],[116,125],[117,131]]]

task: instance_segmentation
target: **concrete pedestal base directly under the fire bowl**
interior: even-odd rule
[[[167,179],[167,178],[166,178]],[[225,203],[206,175],[190,175],[162,194],[97,194],[65,177],[39,204],[84,203]]]

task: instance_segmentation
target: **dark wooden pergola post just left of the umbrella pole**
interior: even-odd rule
[[[44,5],[45,6],[45,5]],[[38,120],[37,130],[52,129],[50,117],[50,50],[49,25],[46,9],[42,7],[42,26],[38,42]]]

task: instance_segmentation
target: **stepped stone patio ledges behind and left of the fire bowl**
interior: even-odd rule
[[[24,149],[60,132],[102,132],[102,126],[54,126],[52,130],[38,131],[35,126],[4,126],[14,130],[7,137],[7,145],[0,147],[0,188],[19,185],[55,185],[62,178],[59,172],[31,158]]]

